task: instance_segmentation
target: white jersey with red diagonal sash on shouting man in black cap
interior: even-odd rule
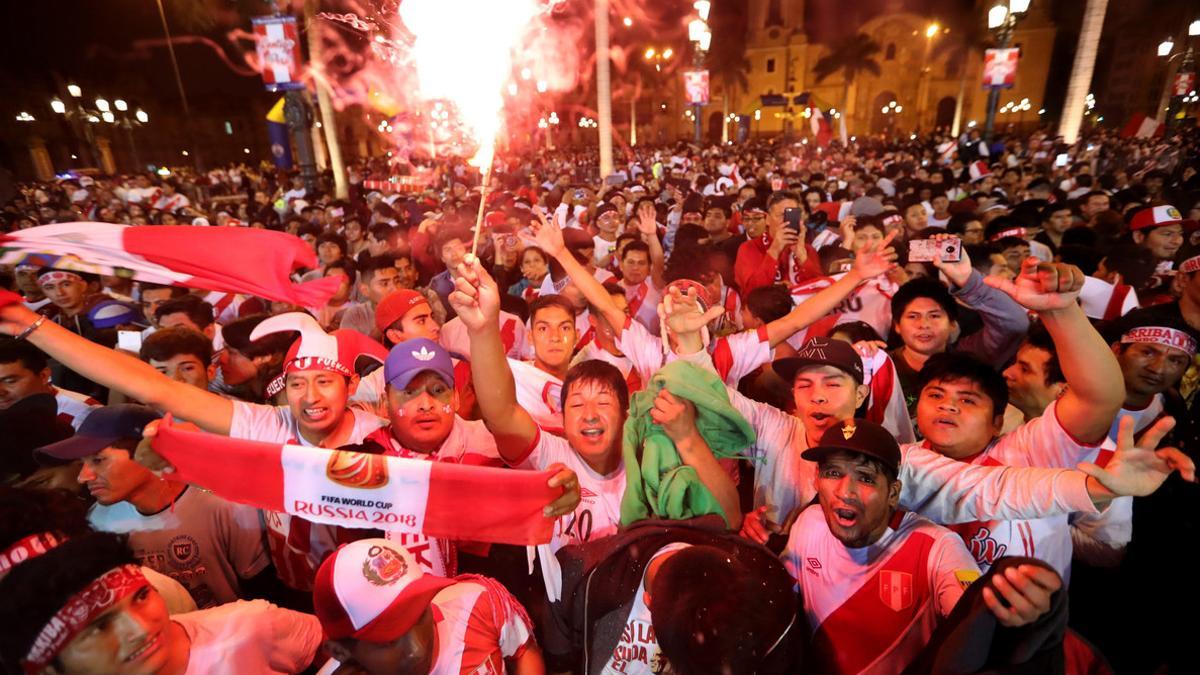
[[[784,566],[796,579],[821,673],[900,673],[979,568],[949,530],[896,512],[874,544],[847,549],[820,506],[792,525]]]

